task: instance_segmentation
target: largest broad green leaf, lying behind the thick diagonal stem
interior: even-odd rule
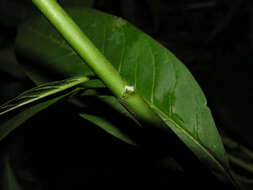
[[[121,18],[87,9],[68,12],[168,128],[212,171],[230,176],[205,96],[187,68],[170,51]],[[16,45],[26,72],[38,83],[55,80],[56,74],[57,78],[93,74],[42,16],[19,28]]]

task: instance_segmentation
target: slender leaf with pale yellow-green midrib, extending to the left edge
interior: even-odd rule
[[[79,91],[81,88],[75,88],[71,91],[67,89],[86,80],[87,78],[83,77],[50,82],[28,90],[0,106],[0,141],[38,112],[46,109],[62,98]],[[57,96],[52,96],[54,94],[57,94]]]

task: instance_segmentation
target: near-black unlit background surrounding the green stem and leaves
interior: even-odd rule
[[[65,7],[92,7],[123,17],[167,47],[202,87],[220,133],[253,148],[252,0],[59,2]],[[18,25],[36,12],[28,0],[0,0],[0,103],[33,86],[14,63],[13,52],[6,50],[13,48]],[[14,63],[11,68],[2,64],[8,62]],[[59,113],[63,109],[68,112]],[[57,104],[30,119],[1,144],[11,152],[14,168],[29,168],[30,177],[22,180],[22,172],[19,176],[25,189],[203,189],[199,181],[213,188],[224,186],[187,150],[176,156],[180,164],[185,163],[185,172],[174,171],[165,167],[163,155],[126,145],[90,123],[85,128],[73,125],[82,121],[70,114],[76,111],[71,109],[66,103]],[[232,168],[252,178],[233,163]]]

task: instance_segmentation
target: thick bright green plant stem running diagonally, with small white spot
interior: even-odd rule
[[[122,79],[118,71],[95,47],[55,0],[33,0],[33,3],[62,34],[72,48],[85,60],[112,93],[134,115],[150,124],[160,125],[161,119],[149,108],[143,98]]]

